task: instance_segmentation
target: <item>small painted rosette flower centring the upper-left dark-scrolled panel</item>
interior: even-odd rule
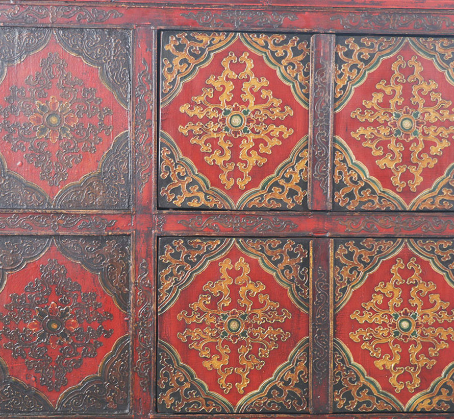
[[[37,111],[29,118],[37,127],[37,137],[49,137],[52,143],[57,139],[72,138],[71,128],[79,122],[68,102],[59,102],[54,96],[45,103],[36,102]]]

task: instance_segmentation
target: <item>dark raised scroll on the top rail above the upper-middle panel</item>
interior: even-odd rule
[[[235,29],[249,28],[280,28],[286,19],[295,21],[298,17],[293,13],[265,12],[262,10],[224,10],[213,12],[211,10],[197,13],[182,13],[181,16],[193,19],[200,26],[210,28],[224,28],[233,26]]]

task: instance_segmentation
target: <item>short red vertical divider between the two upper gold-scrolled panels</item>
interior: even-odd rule
[[[311,38],[308,198],[312,211],[332,208],[334,40],[330,34]]]

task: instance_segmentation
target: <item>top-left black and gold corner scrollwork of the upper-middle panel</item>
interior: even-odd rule
[[[207,66],[216,52],[235,39],[236,34],[226,32],[164,32],[162,106],[178,95],[185,80],[192,78],[200,67]]]

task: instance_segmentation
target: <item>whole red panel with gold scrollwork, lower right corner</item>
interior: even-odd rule
[[[335,240],[335,412],[453,412],[454,241]]]

